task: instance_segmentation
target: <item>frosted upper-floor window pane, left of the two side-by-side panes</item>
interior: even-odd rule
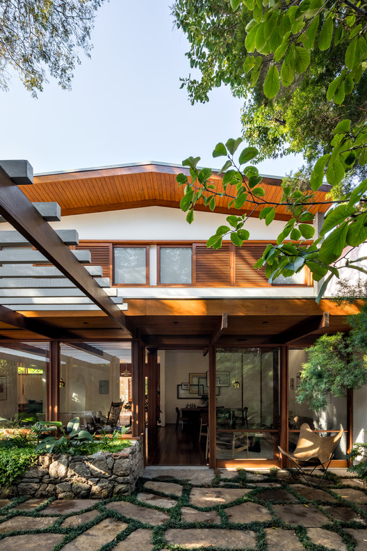
[[[145,285],[147,282],[147,249],[145,247],[115,247],[113,277],[116,284]]]

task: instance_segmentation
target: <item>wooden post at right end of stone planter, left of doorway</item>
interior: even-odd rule
[[[144,346],[140,340],[133,339],[131,348],[131,372],[132,372],[132,436],[140,436],[145,430],[145,377],[143,353]]]

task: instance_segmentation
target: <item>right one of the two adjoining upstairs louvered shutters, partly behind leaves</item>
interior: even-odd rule
[[[234,251],[234,285],[240,287],[269,287],[265,270],[254,269],[255,262],[263,255],[264,245],[248,243]]]

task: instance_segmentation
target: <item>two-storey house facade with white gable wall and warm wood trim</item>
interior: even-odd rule
[[[188,225],[175,182],[183,170],[142,163],[39,175],[32,186],[20,186],[32,202],[60,205],[60,221],[49,224],[76,230],[79,240],[70,249],[90,251],[90,265],[101,266],[100,285],[110,278],[106,290],[123,322],[78,293],[68,302],[70,292],[61,284],[64,290],[57,292],[56,282],[26,298],[17,293],[17,280],[13,290],[2,292],[1,304],[54,333],[44,339],[36,326],[15,328],[2,318],[0,416],[67,422],[76,415],[101,417],[111,401],[124,400],[131,404],[133,436],[147,424],[149,463],[170,427],[188,430],[197,441],[202,417],[209,426],[197,461],[211,466],[280,466],[278,445],[293,449],[302,422],[323,434],[343,426],[335,465],[347,465],[348,449],[365,428],[366,390],[354,397],[330,395],[327,409],[313,412],[298,404],[297,385],[307,361],[304,348],[323,333],[348,330],[346,316],[357,307],[341,309],[330,298],[317,305],[318,283],[307,269],[272,285],[263,270],[254,270],[289,219],[284,207],[269,227],[252,213],[243,247],[224,241],[220,250],[207,249],[206,240],[226,216],[239,213],[222,199],[215,212],[199,205]],[[220,189],[220,177],[214,174],[213,182]],[[263,182],[279,199],[281,180]],[[322,198],[327,189],[318,193]],[[323,208],[315,209],[320,223]],[[10,229],[6,222],[0,227]],[[19,244],[6,248],[10,255],[21,250]],[[174,439],[170,445],[167,462],[177,463]]]

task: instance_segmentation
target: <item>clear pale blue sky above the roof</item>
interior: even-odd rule
[[[16,74],[0,90],[0,158],[28,159],[34,173],[201,157],[220,168],[215,144],[240,136],[243,101],[228,87],[192,106],[179,77],[190,72],[188,42],[166,0],[110,0],[97,12],[92,58],[81,52],[72,91],[49,79],[38,99]],[[300,157],[264,161],[262,174],[285,175]]]

